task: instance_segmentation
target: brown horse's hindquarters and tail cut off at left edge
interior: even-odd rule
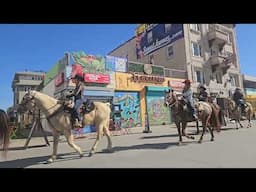
[[[11,126],[7,113],[0,109],[0,145],[3,147],[3,156],[6,157],[10,142]]]

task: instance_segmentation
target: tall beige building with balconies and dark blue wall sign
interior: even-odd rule
[[[204,84],[218,98],[243,88],[234,24],[139,25],[109,55],[162,65],[166,77],[190,79],[194,92]]]

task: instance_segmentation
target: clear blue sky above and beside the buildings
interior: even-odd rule
[[[12,105],[15,72],[48,71],[66,51],[106,55],[134,35],[136,24],[0,24],[0,108]],[[241,71],[256,76],[256,25],[237,25]]]

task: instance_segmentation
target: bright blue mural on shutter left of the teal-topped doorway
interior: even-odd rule
[[[141,126],[141,110],[138,92],[116,92],[114,103],[121,105],[121,118],[116,123],[121,128]]]

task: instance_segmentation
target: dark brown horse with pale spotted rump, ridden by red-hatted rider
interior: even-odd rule
[[[212,114],[212,108],[209,104],[201,104],[205,102],[199,102],[200,105],[198,105],[198,109],[200,110],[200,117],[202,117],[203,122],[203,132],[199,139],[199,143],[203,140],[203,135],[206,129],[206,126],[209,128],[209,120]],[[165,104],[166,106],[169,106],[172,111],[172,116],[175,122],[175,125],[178,129],[179,133],[179,145],[182,143],[182,136],[186,136],[188,139],[195,139],[193,136],[189,136],[186,134],[186,126],[188,122],[194,121],[192,118],[191,113],[189,112],[186,104],[184,103],[184,100],[179,100],[178,97],[174,94],[174,92],[170,91],[169,93],[166,93],[165,95]],[[197,121],[198,126],[198,121]],[[181,130],[182,127],[182,130]],[[210,129],[210,128],[209,128]],[[211,141],[214,140],[214,135],[212,129],[210,129],[211,133]]]

